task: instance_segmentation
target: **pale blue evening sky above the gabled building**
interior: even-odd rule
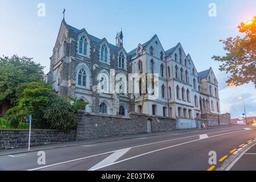
[[[46,5],[46,17],[37,15],[38,3]],[[216,3],[216,17],[208,15],[209,3]],[[218,40],[239,35],[237,25],[256,15],[254,0],[0,0],[0,55],[34,57],[47,73],[64,7],[68,24],[86,28],[110,43],[115,43],[116,32],[123,28],[127,51],[155,34],[165,49],[180,42],[198,72],[213,68],[220,88],[225,86],[227,75],[219,72],[219,63],[211,59],[225,54]],[[222,113],[239,117],[243,113],[239,96],[245,98],[248,115],[256,115],[253,84],[221,90]]]

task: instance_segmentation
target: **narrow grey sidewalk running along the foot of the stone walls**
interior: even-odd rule
[[[152,137],[152,136],[157,136],[157,135],[184,133],[184,132],[189,132],[189,131],[218,129],[218,128],[224,128],[224,127],[233,127],[233,125],[208,127],[208,128],[204,128],[204,129],[173,130],[173,131],[165,131],[165,132],[159,132],[159,133],[135,134],[135,135],[125,135],[125,136],[119,136],[119,137],[96,138],[96,139],[88,139],[88,140],[73,141],[73,142],[55,143],[55,144],[48,144],[48,145],[43,145],[43,146],[30,147],[29,152],[51,150],[51,149],[55,149],[55,148],[73,147],[73,146],[80,146],[80,145],[87,145],[87,144],[94,144],[94,143],[101,143],[101,142],[112,142],[112,141],[116,141],[116,140],[125,140],[125,139],[132,139],[132,138]],[[28,152],[27,148],[16,148],[14,150],[2,150],[2,151],[0,151],[0,156],[22,154],[25,152]]]

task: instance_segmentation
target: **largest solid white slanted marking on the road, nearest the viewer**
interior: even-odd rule
[[[97,168],[101,168],[103,166],[108,166],[109,164],[115,163],[118,159],[120,159],[124,154],[126,154],[131,148],[126,148],[124,150],[119,150],[109,155],[107,158],[102,160],[100,163],[97,163],[94,167],[88,169],[88,171],[94,171]]]

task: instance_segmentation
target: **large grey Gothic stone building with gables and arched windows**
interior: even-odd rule
[[[218,82],[212,68],[197,72],[180,43],[165,51],[157,35],[127,53],[122,31],[113,45],[63,19],[50,61],[48,82],[60,95],[90,102],[82,108],[86,113],[127,115],[135,111],[176,119],[220,114]],[[154,78],[158,78],[158,97],[142,94],[141,88],[139,93],[112,93],[111,77],[117,76],[115,84],[119,84],[128,80],[129,73],[158,73]],[[128,90],[128,85],[120,89]]]

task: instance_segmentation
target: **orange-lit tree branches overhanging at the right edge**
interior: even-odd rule
[[[230,74],[227,82],[243,85],[253,82],[256,88],[256,16],[238,26],[243,36],[220,40],[227,52],[225,56],[213,56],[220,61],[220,71]]]

